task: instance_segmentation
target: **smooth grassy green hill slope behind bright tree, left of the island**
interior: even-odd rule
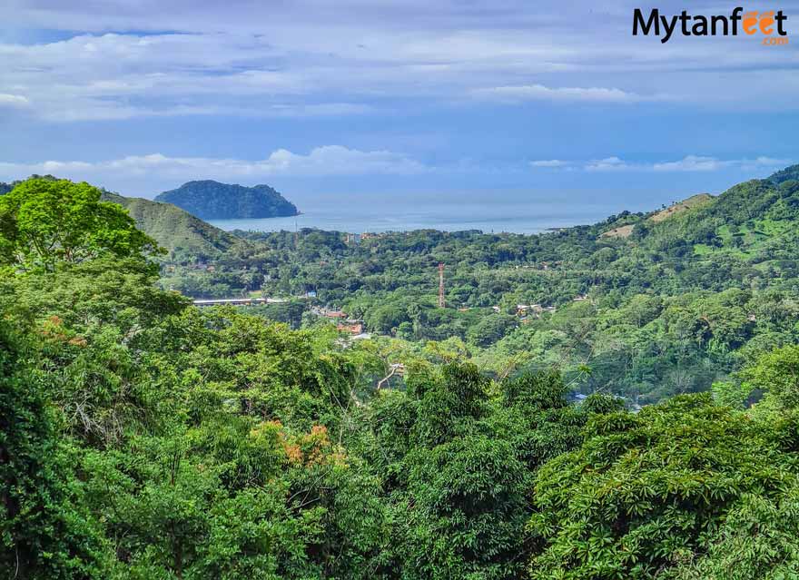
[[[169,203],[123,197],[112,192],[104,192],[103,199],[126,208],[136,225],[178,260],[181,257],[213,256],[237,243],[237,239],[226,231],[214,228]]]

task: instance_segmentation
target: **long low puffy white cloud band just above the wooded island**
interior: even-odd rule
[[[359,151],[325,145],[306,155],[278,149],[261,161],[207,157],[167,157],[161,153],[132,155],[104,162],[0,162],[0,178],[13,180],[31,173],[53,173],[74,180],[103,183],[109,178],[153,175],[170,179],[259,179],[270,176],[412,174],[428,168],[390,151]]]

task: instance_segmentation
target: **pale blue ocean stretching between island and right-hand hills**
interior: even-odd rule
[[[604,198],[604,196],[602,196]],[[591,199],[593,198],[593,199]],[[602,199],[596,194],[545,200],[519,192],[469,194],[350,194],[291,196],[301,215],[259,220],[210,220],[222,230],[327,231],[481,230],[538,233],[550,228],[595,223],[624,210],[656,209],[652,201],[642,207]]]

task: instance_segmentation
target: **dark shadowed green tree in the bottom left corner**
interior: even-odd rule
[[[0,322],[0,575],[107,577],[110,551],[24,348]]]

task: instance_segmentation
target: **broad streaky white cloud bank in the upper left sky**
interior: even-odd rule
[[[25,104],[26,113],[50,122],[371,111],[368,103],[340,98],[329,69],[289,66],[286,58],[256,35],[81,34],[0,44],[0,86],[13,88],[0,94],[0,106]]]

